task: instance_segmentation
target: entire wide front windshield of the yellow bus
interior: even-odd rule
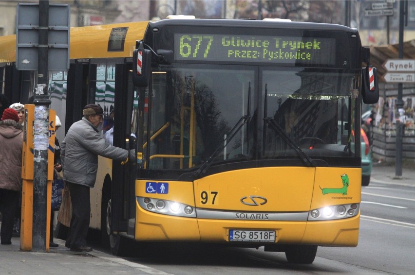
[[[143,127],[145,167],[197,169],[209,158],[216,165],[304,156],[336,165],[336,157],[356,153],[350,129],[357,76],[352,70],[232,65],[153,71],[143,120],[151,121]]]

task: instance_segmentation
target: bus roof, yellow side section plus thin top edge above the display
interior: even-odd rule
[[[117,23],[109,25],[96,25],[71,28],[70,59],[88,59],[104,57],[132,57],[135,41],[144,39],[144,34],[150,21]],[[189,25],[189,26],[226,26],[226,27],[257,27],[257,28],[283,28],[302,30],[343,31],[358,33],[357,29],[337,24],[305,23],[286,21],[264,21],[243,19],[164,19],[151,22],[151,26]],[[113,29],[128,31],[125,35],[123,51],[108,51],[109,38]],[[121,32],[122,33],[122,32]],[[117,34],[113,36],[117,40]],[[14,62],[16,60],[16,35],[0,37],[0,63]]]

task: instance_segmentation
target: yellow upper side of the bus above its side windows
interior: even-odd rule
[[[144,38],[149,21],[71,28],[70,59],[131,57],[135,41]],[[114,28],[127,29],[123,51],[108,52]],[[117,37],[114,37],[115,40]],[[0,37],[0,63],[16,61],[16,34]]]

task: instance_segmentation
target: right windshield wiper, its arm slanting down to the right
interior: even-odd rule
[[[265,84],[265,97],[264,97],[264,149],[265,149],[265,135],[266,135],[266,124],[270,125],[279,135],[283,138],[283,140],[293,148],[297,154],[300,156],[302,162],[307,167],[316,167],[316,165],[313,162],[313,159],[310,158],[307,154],[304,153],[304,151],[301,150],[301,148],[285,133],[283,128],[281,128],[280,125],[274,120],[274,118],[267,118],[267,96],[268,96],[268,88]]]

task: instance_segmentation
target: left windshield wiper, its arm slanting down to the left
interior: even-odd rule
[[[235,126],[233,126],[232,130],[229,131],[229,133],[226,135],[226,138],[224,142],[219,144],[219,146],[216,148],[216,150],[213,152],[212,155],[210,155],[207,160],[199,167],[198,170],[194,172],[194,177],[199,177],[200,175],[204,175],[207,172],[207,169],[209,169],[210,165],[213,163],[213,160],[215,157],[221,152],[226,144],[232,140],[233,137],[241,130],[241,128],[245,125],[246,122],[251,120],[251,112],[250,112],[250,106],[251,106],[251,83],[249,82],[248,86],[248,110],[247,114],[242,116],[238,122],[236,122]],[[239,126],[238,126],[239,125]]]

